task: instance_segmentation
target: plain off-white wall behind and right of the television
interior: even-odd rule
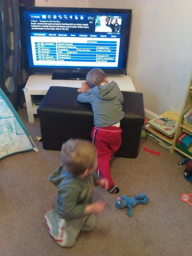
[[[132,9],[127,75],[136,91],[144,95],[146,117],[153,118],[169,109],[180,114],[192,70],[192,0],[36,0],[35,3]]]

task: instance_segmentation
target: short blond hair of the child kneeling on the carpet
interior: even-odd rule
[[[70,139],[62,145],[61,158],[68,172],[78,176],[93,167],[97,150],[88,140]]]

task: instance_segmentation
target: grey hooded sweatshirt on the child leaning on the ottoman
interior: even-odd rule
[[[124,102],[123,94],[114,81],[79,94],[77,100],[91,104],[96,127],[107,127],[124,118],[121,105]]]

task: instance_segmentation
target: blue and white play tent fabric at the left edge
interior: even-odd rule
[[[28,150],[38,151],[31,144],[29,132],[15,108],[0,89],[0,159]]]

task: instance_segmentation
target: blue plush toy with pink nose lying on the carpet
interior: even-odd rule
[[[133,216],[132,208],[135,207],[137,204],[143,204],[146,205],[149,203],[149,198],[145,194],[141,194],[138,197],[129,197],[126,196],[120,196],[117,198],[115,204],[117,208],[125,208],[128,207],[127,214],[129,216]]]

